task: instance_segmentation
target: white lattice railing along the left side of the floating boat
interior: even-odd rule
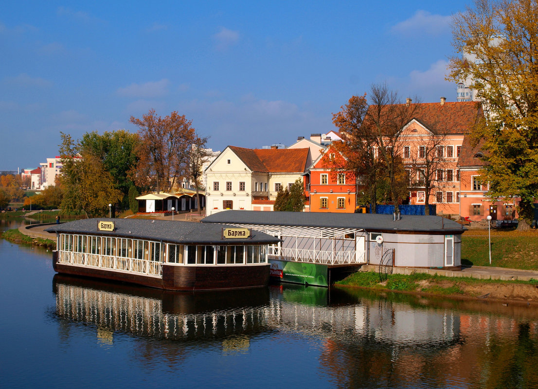
[[[58,251],[58,263],[162,277],[162,263],[111,255]]]

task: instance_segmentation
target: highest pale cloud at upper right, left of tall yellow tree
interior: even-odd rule
[[[441,35],[450,31],[451,20],[451,16],[432,15],[428,11],[418,10],[409,19],[392,26],[391,32],[407,36],[423,33]]]

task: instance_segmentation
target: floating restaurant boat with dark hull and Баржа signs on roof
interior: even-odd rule
[[[54,225],[53,268],[165,290],[265,286],[268,244],[250,228],[141,219],[85,219]]]

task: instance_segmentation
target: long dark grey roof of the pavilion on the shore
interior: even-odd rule
[[[329,228],[359,228],[367,231],[394,230],[416,233],[463,233],[464,228],[450,219],[439,216],[392,215],[334,212],[267,212],[222,211],[202,219],[204,223],[251,224],[268,226],[302,226]]]

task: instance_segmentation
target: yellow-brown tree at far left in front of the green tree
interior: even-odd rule
[[[80,154],[80,145],[70,135],[60,134],[62,208],[82,210],[88,218],[106,215],[108,204],[120,201],[122,192],[114,188],[112,176],[98,157],[88,152]]]

